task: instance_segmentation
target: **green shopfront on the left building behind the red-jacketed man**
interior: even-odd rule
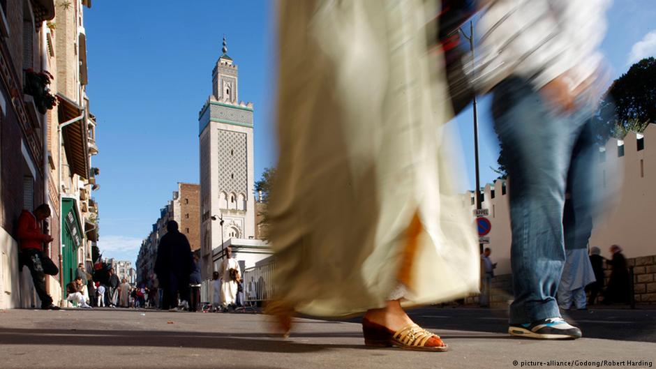
[[[80,226],[80,219],[77,217],[75,207],[75,199],[62,199],[61,201],[62,214],[61,218],[61,276],[64,280],[62,293],[66,297],[66,285],[75,279],[75,271],[77,270],[77,248],[82,245],[82,227]]]

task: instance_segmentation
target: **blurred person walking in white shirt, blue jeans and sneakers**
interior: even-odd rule
[[[585,247],[592,227],[597,147],[590,118],[602,84],[597,47],[609,1],[479,3],[475,85],[493,95],[509,178],[514,301],[508,332],[579,338],[581,331],[560,316],[556,292],[565,247]],[[564,221],[565,193],[571,194],[572,214]]]

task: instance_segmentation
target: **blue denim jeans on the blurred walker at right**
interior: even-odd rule
[[[517,77],[493,91],[494,126],[509,178],[514,302],[510,324],[560,317],[556,292],[568,247],[586,247],[592,228],[595,135],[589,112],[556,114]],[[563,211],[565,194],[573,215]]]

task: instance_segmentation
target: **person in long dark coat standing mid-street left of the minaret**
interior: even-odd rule
[[[193,270],[191,246],[184,234],[178,230],[178,223],[170,220],[167,233],[157,248],[154,271],[163,289],[162,310],[177,307],[177,296],[181,301],[189,300],[189,275]]]

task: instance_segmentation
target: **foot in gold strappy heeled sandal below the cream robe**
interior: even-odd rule
[[[387,301],[385,308],[368,310],[362,319],[362,333],[368,346],[396,346],[422,351],[448,349],[440,336],[412,322],[398,300]]]

